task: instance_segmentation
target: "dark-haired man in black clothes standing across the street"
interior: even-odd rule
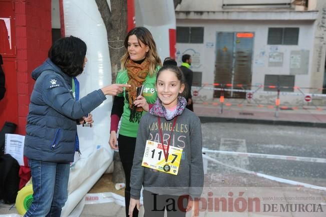
[[[186,79],[187,91],[186,100],[187,100],[187,109],[190,111],[194,111],[193,109],[193,102],[192,102],[192,95],[191,95],[191,86],[192,86],[192,77],[193,71],[190,69],[191,66],[191,56],[189,54],[184,54],[182,56],[182,64],[180,66],[181,71]]]

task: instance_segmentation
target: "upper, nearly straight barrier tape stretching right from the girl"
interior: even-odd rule
[[[316,157],[297,157],[297,156],[288,156],[288,155],[257,154],[257,153],[246,153],[246,152],[235,152],[235,151],[220,151],[220,150],[209,150],[206,148],[203,148],[202,152],[226,154],[226,155],[233,155],[233,156],[243,156],[243,157],[259,157],[259,158],[268,158],[268,159],[281,159],[281,160],[326,163],[326,158],[316,158]]]

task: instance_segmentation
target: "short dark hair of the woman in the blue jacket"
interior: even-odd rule
[[[50,60],[70,77],[82,74],[87,46],[81,39],[70,36],[57,40],[49,50]]]

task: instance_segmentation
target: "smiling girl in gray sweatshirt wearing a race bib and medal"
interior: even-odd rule
[[[158,99],[141,118],[137,134],[130,217],[135,207],[139,209],[142,186],[144,216],[163,217],[166,209],[168,217],[182,217],[191,208],[198,215],[195,200],[200,197],[204,182],[201,124],[195,113],[185,108],[186,99],[180,96],[184,87],[184,77],[177,66],[165,65],[158,71]],[[167,208],[171,201],[177,201],[172,209]]]

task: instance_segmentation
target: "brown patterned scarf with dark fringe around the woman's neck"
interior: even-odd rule
[[[146,59],[141,64],[137,64],[134,63],[132,60],[128,60],[126,63],[126,69],[129,77],[128,84],[131,85],[131,87],[126,88],[126,98],[128,99],[130,109],[129,121],[139,123],[143,108],[135,107],[133,102],[136,100],[137,97],[136,88],[143,84],[149,72],[149,61]]]

